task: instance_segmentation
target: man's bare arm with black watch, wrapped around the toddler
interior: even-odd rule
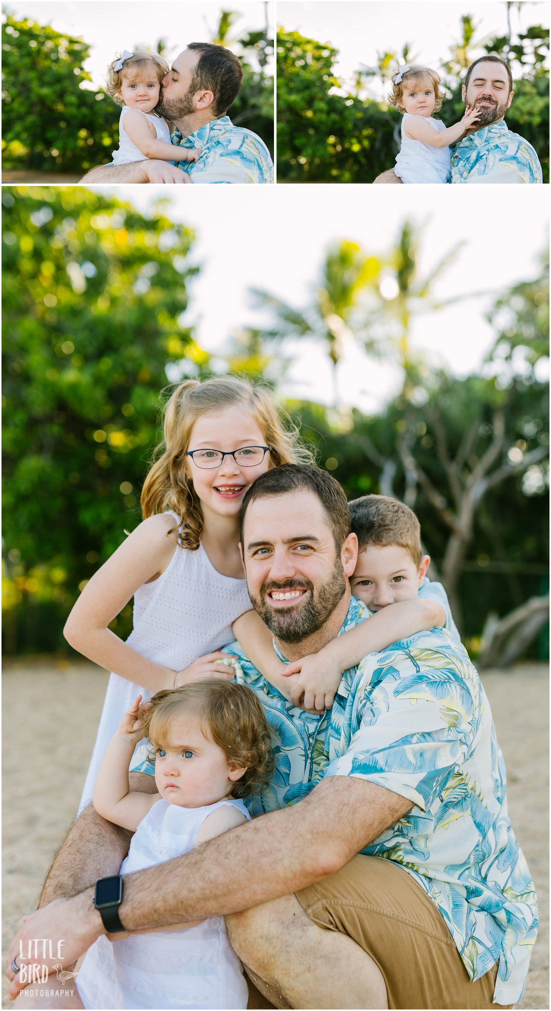
[[[410,800],[364,779],[331,776],[295,807],[125,877],[121,922],[130,931],[152,929],[238,913],[290,895],[335,874],[411,807]],[[9,967],[19,941],[50,938],[53,946],[64,939],[61,961],[70,964],[104,933],[93,898],[88,888],[28,917],[8,953],[12,997],[20,983]]]

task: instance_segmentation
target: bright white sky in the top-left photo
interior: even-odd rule
[[[244,0],[235,5],[212,0],[8,0],[10,14],[31,17],[38,24],[49,24],[57,31],[82,35],[91,47],[85,70],[96,88],[105,85],[106,67],[123,50],[132,52],[144,42],[152,48],[158,38],[167,40],[169,61],[188,42],[209,41],[225,7],[240,13],[231,38],[240,38],[249,30],[265,24],[271,2]],[[270,22],[272,18],[270,17]]]

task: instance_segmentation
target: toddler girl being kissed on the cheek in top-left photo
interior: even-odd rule
[[[113,152],[113,165],[143,162],[147,158],[175,163],[168,122],[153,112],[162,78],[169,73],[167,61],[156,53],[128,53],[125,50],[122,57],[113,61],[108,73],[105,90],[122,105],[119,147]],[[196,162],[198,157],[197,151],[185,148],[178,151],[178,161]]]

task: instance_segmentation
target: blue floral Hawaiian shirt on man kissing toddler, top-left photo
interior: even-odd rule
[[[197,162],[176,162],[194,183],[273,182],[273,165],[263,141],[243,126],[234,126],[229,116],[213,119],[186,137],[176,130],[172,142],[179,148],[202,149]]]

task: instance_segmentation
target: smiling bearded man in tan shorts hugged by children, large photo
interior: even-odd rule
[[[326,471],[286,464],[261,474],[243,499],[241,552],[284,661],[369,618],[350,594],[357,538],[346,496]],[[257,987],[253,1008],[511,1007],[528,973],[536,897],[487,699],[463,647],[434,628],[369,654],[344,671],[323,714],[284,698],[237,643],[229,651],[238,682],[264,707],[272,779],[252,821],[119,878],[109,929],[115,914],[123,931],[224,915]],[[154,793],[153,771],[145,759],[133,789]],[[42,908],[12,941],[12,996],[31,938],[53,951],[63,939],[67,966],[106,932],[91,886],[118,876],[128,841],[92,807],[83,812]],[[17,1007],[29,1006],[48,1005],[23,993]],[[49,1006],[82,1004],[74,993]]]

